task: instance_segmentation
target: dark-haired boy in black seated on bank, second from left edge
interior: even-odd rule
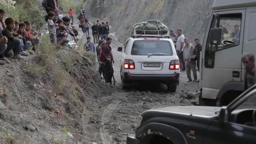
[[[6,28],[2,31],[2,35],[7,37],[8,39],[7,49],[5,50],[5,53],[8,53],[9,51],[13,50],[14,58],[23,60],[23,57],[20,55],[22,49],[22,40],[18,39],[14,32],[15,20],[11,17],[8,17],[5,20],[5,24]]]

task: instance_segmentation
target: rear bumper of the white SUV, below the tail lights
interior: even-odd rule
[[[179,83],[179,73],[173,75],[131,75],[129,72],[123,72],[125,81],[156,81],[163,83]]]

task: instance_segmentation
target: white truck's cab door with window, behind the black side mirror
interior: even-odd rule
[[[216,99],[225,83],[240,82],[245,12],[245,9],[213,12],[203,43],[202,98]],[[220,45],[210,46],[209,30],[215,27],[223,29],[223,41]]]

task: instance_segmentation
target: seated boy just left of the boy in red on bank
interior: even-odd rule
[[[22,47],[22,52],[21,55],[26,55],[25,51],[29,51],[30,47],[31,47],[31,42],[27,40],[27,32],[25,31],[26,28],[26,24],[25,23],[19,23],[19,28],[17,30],[17,33],[22,36],[22,42],[24,44],[24,46]],[[29,53],[27,53],[28,55]]]

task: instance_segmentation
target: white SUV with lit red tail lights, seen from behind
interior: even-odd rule
[[[175,92],[180,65],[169,33],[164,36],[134,35],[126,40],[121,57],[122,88],[126,89],[132,82],[146,81],[165,83],[168,91]],[[123,48],[118,47],[118,51],[123,52]]]

